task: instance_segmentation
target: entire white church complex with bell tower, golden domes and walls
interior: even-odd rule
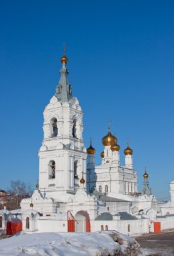
[[[21,201],[24,232],[93,232],[117,230],[125,234],[160,232],[174,228],[174,181],[171,201],[159,203],[151,193],[148,174],[138,192],[133,150],[124,150],[120,163],[118,139],[110,123],[102,139],[101,164],[95,165],[95,148],[85,148],[83,112],[68,81],[68,59],[61,58],[56,94],[44,109],[44,139],[38,152],[39,183],[31,198]],[[2,228],[13,211],[0,211]]]

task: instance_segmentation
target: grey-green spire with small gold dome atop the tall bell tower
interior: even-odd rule
[[[65,56],[65,46],[63,48],[63,56],[60,59],[60,61],[62,63],[62,68],[59,71],[60,80],[58,82],[58,85],[56,86],[55,95],[62,102],[69,102],[69,99],[72,98],[72,92],[71,92],[71,84],[69,84],[69,80],[67,78],[69,71],[66,67],[68,58]]]

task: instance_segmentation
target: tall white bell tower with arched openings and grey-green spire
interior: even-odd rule
[[[82,174],[86,180],[83,112],[67,78],[65,49],[60,61],[60,80],[44,109],[44,139],[38,152],[40,191],[53,198],[60,193],[75,193]]]

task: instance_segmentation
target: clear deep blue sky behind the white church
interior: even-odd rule
[[[174,179],[173,1],[1,1],[0,188],[38,179],[43,111],[67,43],[69,82],[83,108],[96,162],[112,121],[129,138],[142,188],[144,166],[159,199]]]

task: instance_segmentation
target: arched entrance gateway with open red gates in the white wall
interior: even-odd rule
[[[90,218],[87,211],[79,211],[75,214],[75,232],[90,232]]]

